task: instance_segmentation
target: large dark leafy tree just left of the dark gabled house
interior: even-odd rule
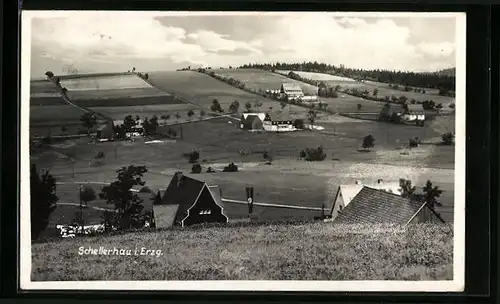
[[[144,173],[148,172],[145,166],[122,167],[116,171],[118,173],[116,181],[109,186],[102,188],[99,197],[106,200],[106,203],[113,204],[116,213],[113,221],[118,229],[141,228],[145,224],[145,217],[142,214],[143,200],[134,192],[130,191],[134,186],[144,186],[142,180]],[[111,216],[108,214],[108,216]],[[106,223],[105,223],[106,225]]]

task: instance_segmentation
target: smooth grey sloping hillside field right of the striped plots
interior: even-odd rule
[[[229,105],[234,101],[240,104],[239,112],[245,111],[247,102],[250,103],[252,112],[282,110],[277,101],[245,92],[194,71],[152,72],[149,73],[149,81],[162,91],[174,94],[206,111],[210,111],[214,99],[219,101],[226,113],[229,112]],[[304,118],[307,114],[307,109],[298,106],[287,106],[284,110],[289,111],[292,117]]]

